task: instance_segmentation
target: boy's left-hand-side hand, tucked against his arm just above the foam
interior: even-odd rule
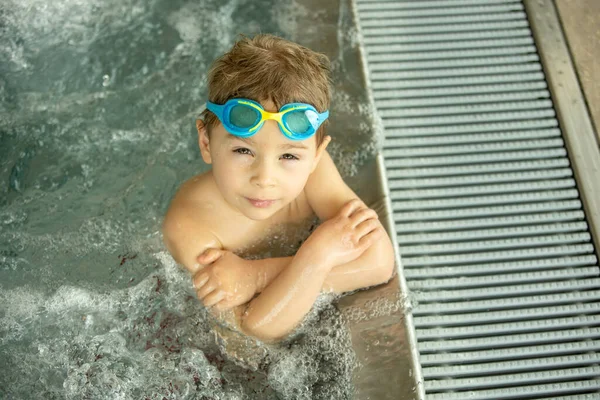
[[[250,262],[227,250],[208,249],[198,262],[206,265],[192,283],[204,306],[224,311],[245,304],[257,291],[257,272]]]

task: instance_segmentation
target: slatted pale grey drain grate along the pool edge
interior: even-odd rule
[[[518,0],[356,0],[427,399],[600,398],[600,277]]]

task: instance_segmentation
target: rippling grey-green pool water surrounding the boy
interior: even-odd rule
[[[208,66],[240,32],[326,52],[330,153],[354,187],[373,165],[380,138],[349,2],[317,4],[0,5],[0,397],[355,396],[364,363],[347,322],[401,311],[401,298],[347,298],[342,311],[324,299],[303,333],[249,366],[219,347],[160,235],[178,185],[207,170],[194,119]]]

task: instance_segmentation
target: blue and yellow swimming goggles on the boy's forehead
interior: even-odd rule
[[[266,120],[273,119],[287,138],[304,140],[329,117],[329,111],[319,113],[306,103],[285,104],[277,113],[265,111],[260,103],[248,99],[229,99],[223,105],[209,101],[206,108],[215,113],[229,133],[241,138],[254,135]]]

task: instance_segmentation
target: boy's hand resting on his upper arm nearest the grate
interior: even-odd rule
[[[318,262],[333,268],[360,257],[382,233],[377,213],[353,199],[335,217],[319,225],[298,252],[317,257]]]

